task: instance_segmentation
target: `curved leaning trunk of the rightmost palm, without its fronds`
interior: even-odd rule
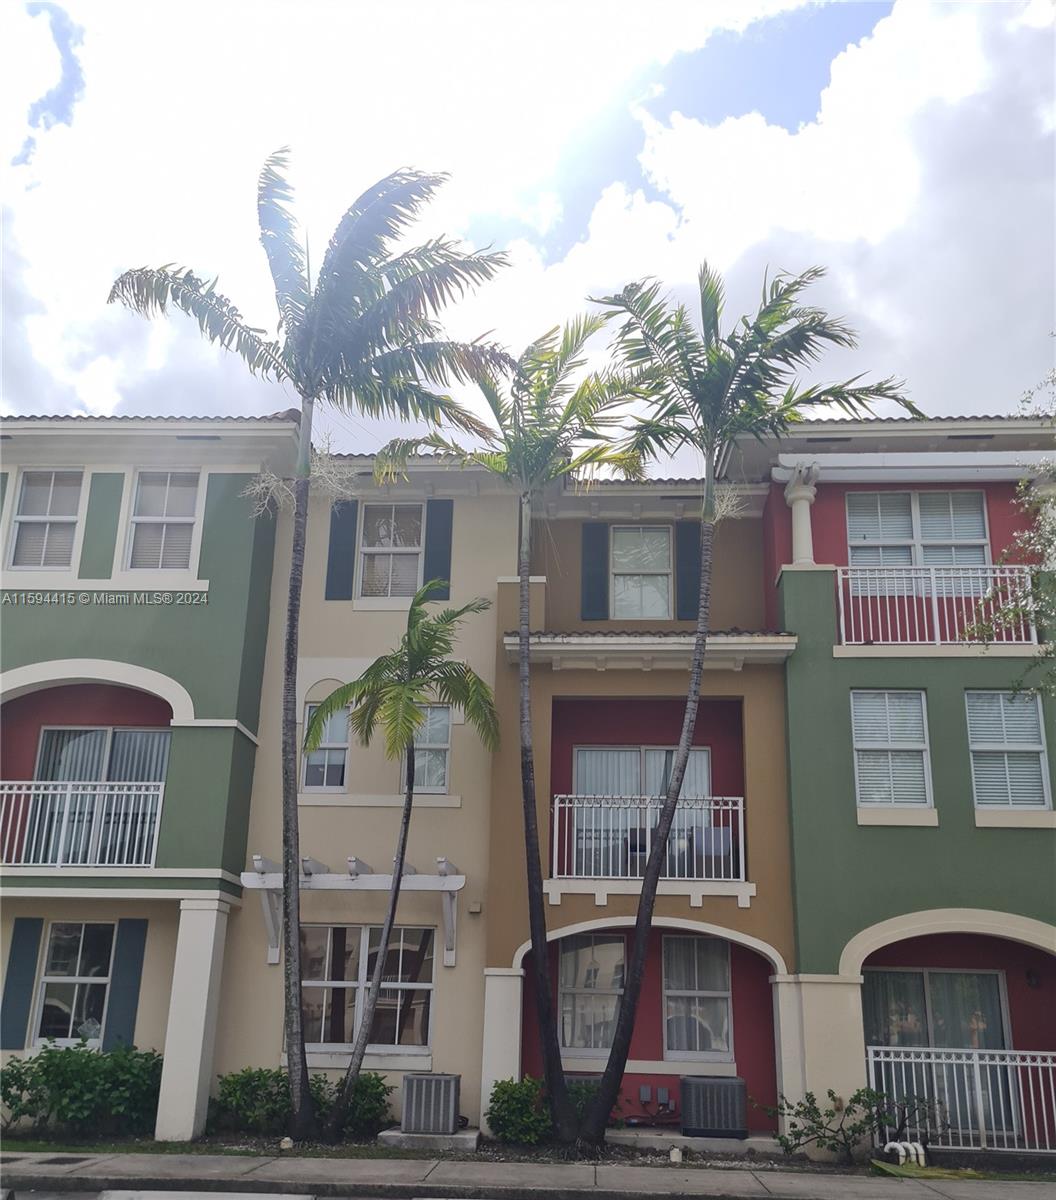
[[[709,456],[710,458],[710,456]],[[704,509],[701,520],[701,578],[700,600],[697,604],[697,628],[694,637],[692,661],[689,670],[689,689],[685,697],[685,713],[682,719],[682,733],[678,738],[678,750],[667,784],[667,794],[660,809],[660,818],[653,832],[653,847],[646,863],[642,878],[642,894],[638,899],[638,914],[635,920],[635,936],[631,943],[631,955],[624,972],[623,996],[619,1003],[619,1015],[612,1034],[612,1048],[598,1091],[590,1102],[580,1139],[598,1146],[605,1140],[605,1127],[608,1115],[616,1105],[619,1087],[626,1069],[628,1055],[631,1048],[631,1034],[638,1012],[638,1000],[642,994],[642,979],[646,974],[646,952],[649,946],[649,931],[653,926],[653,910],[656,906],[656,887],[660,872],[667,859],[667,839],[678,797],[682,793],[682,781],[689,763],[689,751],[692,745],[694,730],[697,724],[697,707],[701,698],[701,676],[704,670],[704,652],[708,646],[708,623],[712,610],[712,542],[715,533],[714,521],[714,484],[710,462],[706,467]]]

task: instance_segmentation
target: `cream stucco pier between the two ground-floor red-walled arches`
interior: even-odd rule
[[[778,1091],[790,1100],[864,1087],[862,976],[772,976]]]

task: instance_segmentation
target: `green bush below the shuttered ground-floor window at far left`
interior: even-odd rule
[[[119,1046],[107,1054],[44,1045],[0,1070],[4,1127],[30,1122],[65,1133],[150,1133],[157,1118],[161,1055]]]

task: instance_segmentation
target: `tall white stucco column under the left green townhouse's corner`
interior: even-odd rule
[[[188,1141],[205,1127],[229,911],[223,900],[180,901],[155,1128],[158,1141]]]

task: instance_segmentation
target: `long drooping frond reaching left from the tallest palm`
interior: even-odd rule
[[[107,298],[107,304],[114,302],[143,317],[163,316],[173,305],[193,317],[210,342],[238,354],[254,374],[293,379],[278,342],[269,341],[263,329],[246,324],[234,304],[216,290],[215,280],[206,283],[186,266],[169,263],[125,271],[114,281]]]

